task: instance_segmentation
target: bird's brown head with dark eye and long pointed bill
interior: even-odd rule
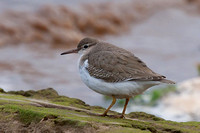
[[[68,50],[64,53],[61,53],[61,55],[65,55],[65,54],[71,54],[71,53],[79,53],[79,54],[83,54],[88,52],[93,46],[95,46],[98,43],[98,40],[94,39],[94,38],[83,38],[79,43],[76,49],[71,49]]]

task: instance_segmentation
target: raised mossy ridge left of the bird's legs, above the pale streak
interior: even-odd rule
[[[23,100],[30,102],[27,98],[35,98],[41,100],[48,100],[48,102],[64,105],[64,106],[73,106],[81,109],[92,110],[96,113],[102,113],[105,111],[104,108],[99,106],[89,106],[85,102],[76,98],[69,98],[67,96],[59,96],[58,93],[52,89],[47,88],[44,90],[38,91],[9,91],[6,95],[2,95],[3,98],[13,99],[13,100]],[[27,97],[27,98],[26,98]],[[111,111],[112,112],[112,111]]]

